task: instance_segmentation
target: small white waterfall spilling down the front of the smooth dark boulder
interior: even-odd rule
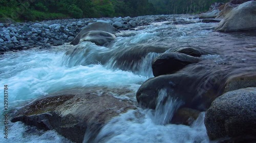
[[[161,89],[158,94],[157,106],[155,109],[155,115],[154,115],[155,123],[157,125],[168,124],[170,120],[172,120],[175,111],[181,105],[182,105],[182,101],[179,101],[178,98],[168,96],[167,90]]]

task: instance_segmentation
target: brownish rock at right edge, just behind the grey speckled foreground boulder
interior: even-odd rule
[[[256,87],[255,74],[231,76],[225,83],[224,93],[249,87]]]

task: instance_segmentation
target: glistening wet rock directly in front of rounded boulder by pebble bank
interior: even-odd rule
[[[111,42],[114,40],[116,36],[114,34],[104,32],[104,31],[89,31],[87,33],[84,33],[79,43],[83,41],[90,41],[95,43],[96,45],[102,46],[106,42]]]

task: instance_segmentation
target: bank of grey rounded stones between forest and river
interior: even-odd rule
[[[189,17],[176,15],[177,18]],[[194,15],[190,16],[194,18]],[[94,22],[104,22],[113,25],[118,30],[134,30],[137,26],[151,22],[174,21],[170,15],[153,15],[139,17],[116,18],[85,18],[62,19],[37,22],[0,23],[0,52],[26,50],[29,48],[51,48],[71,42],[75,36]]]

